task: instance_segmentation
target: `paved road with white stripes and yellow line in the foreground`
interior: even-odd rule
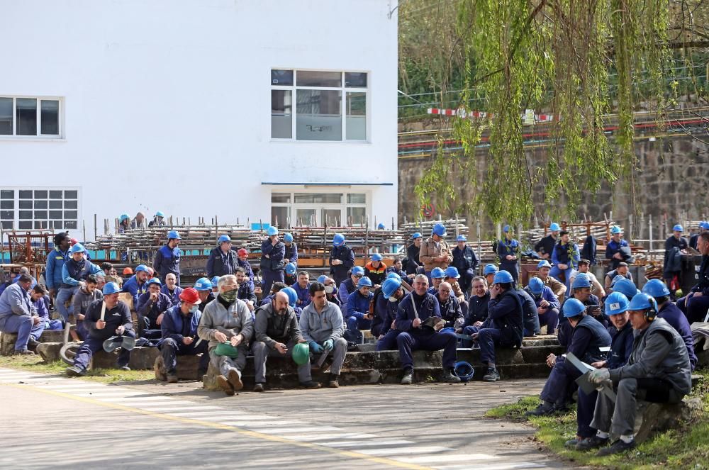
[[[560,468],[485,410],[542,381],[205,392],[0,369],[0,468]]]

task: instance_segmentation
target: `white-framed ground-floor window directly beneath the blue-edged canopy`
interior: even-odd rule
[[[362,227],[367,216],[367,194],[286,192],[271,194],[271,223],[278,227]]]

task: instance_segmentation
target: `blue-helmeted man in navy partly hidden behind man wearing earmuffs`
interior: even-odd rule
[[[627,312],[627,307],[630,302],[620,292],[611,293],[605,299],[605,314],[608,315],[612,327],[608,328],[610,337],[610,352],[608,359],[605,361],[592,362],[591,366],[600,369],[606,367],[608,369],[617,369],[622,367],[630,357],[632,351],[632,326],[628,321],[630,313]],[[598,391],[593,393],[585,393],[582,388],[579,388],[579,398],[576,400],[576,437],[564,444],[566,447],[574,447],[576,450],[592,449],[596,446],[596,432],[598,430],[591,427],[593,420],[593,410],[596,408],[596,399]]]

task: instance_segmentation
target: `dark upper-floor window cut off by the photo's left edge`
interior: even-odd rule
[[[61,135],[60,98],[0,95],[0,138]]]

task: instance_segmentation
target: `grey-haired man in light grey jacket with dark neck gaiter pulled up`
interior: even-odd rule
[[[202,310],[197,327],[197,335],[209,341],[209,360],[219,371],[217,384],[229,396],[244,387],[241,371],[246,365],[246,349],[254,332],[254,320],[249,308],[244,301],[236,298],[237,285],[236,276],[220,276],[219,293]],[[211,289],[209,293],[211,295]],[[222,343],[236,349],[235,357],[218,354],[221,351],[216,349],[217,345]]]

